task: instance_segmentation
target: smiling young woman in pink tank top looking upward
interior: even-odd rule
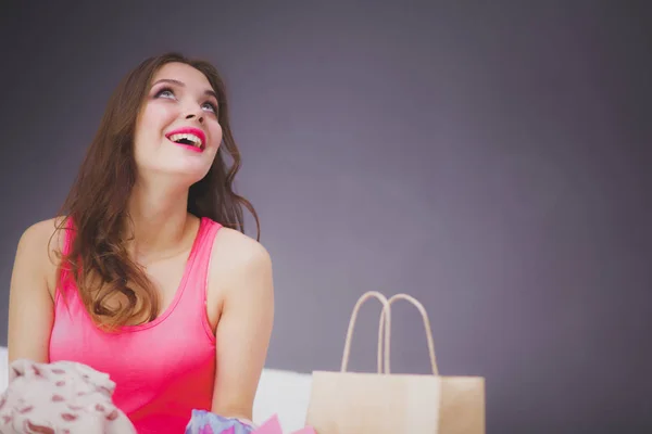
[[[192,409],[252,417],[274,290],[242,233],[242,206],[258,217],[231,189],[227,110],[209,63],[146,60],[111,97],[62,217],[18,243],[10,361],[106,372],[139,433],[181,433]]]

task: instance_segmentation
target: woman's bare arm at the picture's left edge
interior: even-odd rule
[[[53,302],[49,275],[54,269],[48,244],[53,220],[29,227],[18,241],[9,295],[9,361],[48,362]],[[57,245],[57,237],[52,238]]]

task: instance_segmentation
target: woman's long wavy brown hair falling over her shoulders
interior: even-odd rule
[[[134,321],[151,321],[159,311],[159,297],[143,269],[127,254],[125,222],[127,203],[137,168],[134,157],[136,120],[151,80],[165,64],[179,62],[203,73],[218,97],[218,123],[223,143],[206,176],[190,187],[188,212],[209,217],[225,227],[244,232],[242,207],[260,222],[253,206],[236,194],[233,182],[240,168],[224,82],[209,62],[165,53],[145,60],[129,72],[111,95],[98,131],[88,148],[79,173],[66,197],[58,230],[73,230],[67,254],[60,253],[58,275],[74,279],[80,298],[93,321],[115,330]],[[230,166],[225,155],[231,159]],[[70,226],[67,226],[70,225]],[[66,229],[68,228],[68,229]],[[61,280],[60,280],[61,281]],[[117,308],[108,301],[122,294],[126,304]]]

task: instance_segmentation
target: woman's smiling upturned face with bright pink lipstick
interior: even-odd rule
[[[167,63],[154,75],[134,139],[138,176],[171,175],[188,186],[211,168],[220,143],[217,98],[190,65]]]

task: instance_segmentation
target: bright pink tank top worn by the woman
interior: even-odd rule
[[[103,332],[82,304],[74,282],[60,282],[50,361],[78,361],[108,373],[116,384],[114,404],[140,434],[183,433],[192,409],[211,409],[215,335],[206,317],[206,277],[213,239],[221,227],[201,219],[172,304],[146,324]],[[73,231],[65,232],[67,252]],[[68,295],[66,301],[60,292]]]

